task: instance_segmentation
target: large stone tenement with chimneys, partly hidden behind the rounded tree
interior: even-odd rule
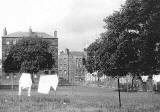
[[[53,66],[52,70],[58,72],[58,38],[57,31],[54,31],[54,36],[46,34],[44,32],[33,32],[31,28],[29,28],[28,32],[14,32],[7,34],[7,29],[4,28],[3,36],[2,36],[2,60],[4,61],[9,53],[9,50],[12,45],[16,44],[20,39],[27,37],[42,37],[45,40],[49,40],[51,42],[51,52],[53,53],[53,58],[56,63]],[[52,71],[51,70],[51,71]]]

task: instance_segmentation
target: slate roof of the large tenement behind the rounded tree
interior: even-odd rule
[[[31,35],[37,35],[38,37],[43,37],[43,38],[55,38],[54,36],[51,36],[47,33],[44,32],[32,32]],[[10,33],[8,35],[5,35],[3,37],[29,37],[30,33],[29,32],[14,32],[14,33]]]

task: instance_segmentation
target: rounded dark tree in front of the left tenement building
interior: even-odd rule
[[[25,37],[11,47],[4,61],[5,72],[37,73],[40,70],[51,69],[54,65],[50,42],[40,37]]]

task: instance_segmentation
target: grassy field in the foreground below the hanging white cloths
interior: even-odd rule
[[[32,90],[19,97],[18,91],[0,90],[0,112],[159,112],[160,94],[121,92],[119,108],[117,91],[98,87],[58,87],[56,95]]]

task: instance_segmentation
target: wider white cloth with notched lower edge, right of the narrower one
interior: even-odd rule
[[[58,86],[58,76],[57,75],[42,75],[39,79],[38,92],[43,94],[48,94],[50,88],[56,91]]]

